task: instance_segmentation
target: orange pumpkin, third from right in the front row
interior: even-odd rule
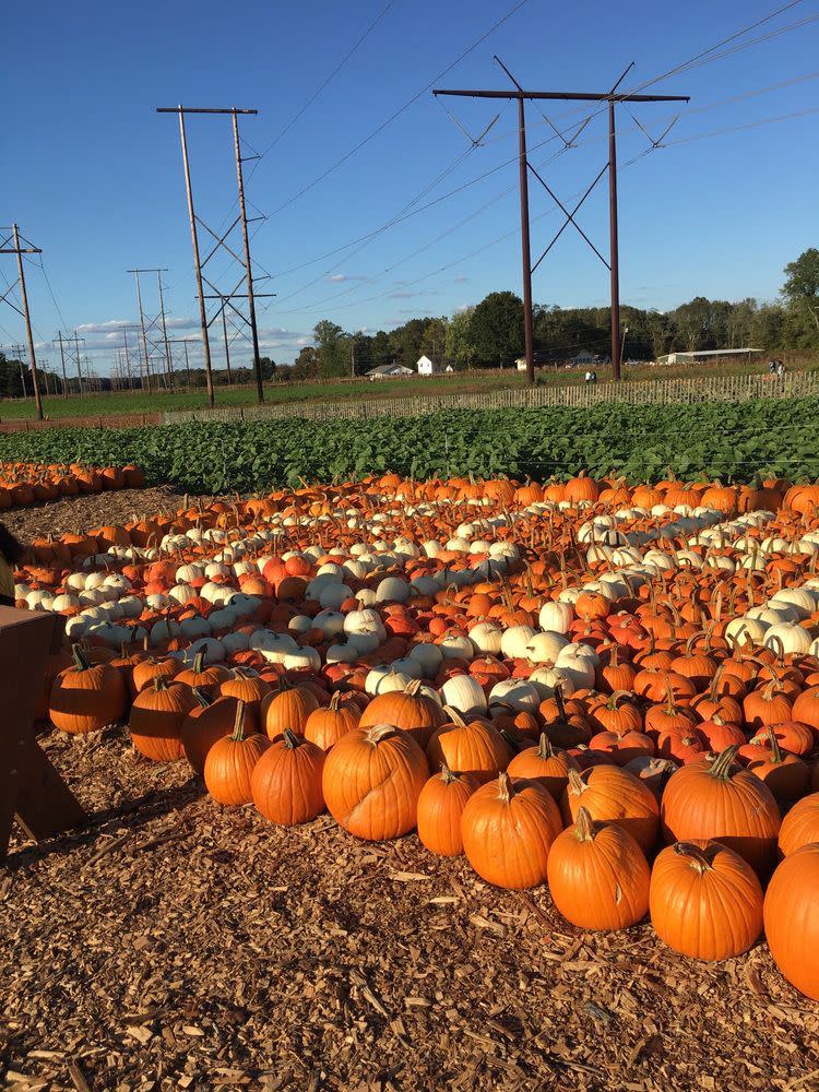
[[[649,910],[651,871],[640,846],[617,823],[578,809],[549,850],[549,892],[567,922],[596,931],[626,929]]]

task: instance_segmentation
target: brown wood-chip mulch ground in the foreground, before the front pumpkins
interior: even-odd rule
[[[93,820],[0,868],[7,1087],[819,1087],[819,1007],[764,945],[711,965],[585,934],[415,835],[222,808],[122,728],[43,744]]]

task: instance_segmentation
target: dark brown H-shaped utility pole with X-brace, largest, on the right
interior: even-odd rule
[[[619,273],[619,240],[618,240],[618,229],[617,229],[617,130],[616,130],[616,118],[615,118],[615,107],[618,103],[687,103],[689,102],[688,95],[628,95],[628,94],[617,94],[617,87],[626,78],[627,73],[633,67],[629,64],[626,71],[622,73],[617,83],[607,92],[567,92],[567,91],[524,91],[523,87],[518,83],[509,69],[503,64],[503,62],[496,57],[495,60],[500,64],[503,71],[507,73],[511,82],[514,84],[513,91],[444,91],[442,88],[436,88],[434,95],[454,95],[462,98],[492,98],[492,99],[515,99],[518,102],[518,126],[519,126],[519,140],[518,140],[518,158],[520,166],[520,193],[521,193],[521,252],[523,260],[523,329],[526,348],[526,382],[529,385],[533,385],[535,381],[535,365],[534,365],[534,337],[533,337],[533,307],[532,307],[532,274],[535,272],[537,266],[544,260],[549,250],[557,242],[560,235],[562,235],[566,227],[571,224],[583,237],[583,239],[589,244],[589,246],[594,250],[601,261],[606,265],[610,272],[610,286],[612,286],[612,371],[614,379],[618,380],[620,378],[620,357],[621,357],[621,341],[620,341],[620,273]],[[538,102],[538,100],[557,100],[557,102],[582,102],[582,103],[606,103],[608,106],[608,162],[605,164],[603,169],[600,171],[595,180],[589,187],[586,192],[583,194],[578,204],[570,211],[567,209],[557,195],[551,191],[548,185],[541,177],[535,167],[529,162],[526,155],[526,118],[524,111],[525,102]],[[676,119],[675,119],[676,120]],[[548,118],[546,118],[548,121]],[[581,128],[585,128],[587,121],[583,122]],[[672,126],[674,121],[672,121]],[[660,136],[658,140],[652,140],[653,147],[661,147],[662,141],[668,133],[668,130]],[[551,127],[555,128],[554,126]],[[579,131],[579,130],[578,130]],[[565,147],[573,146],[573,140],[577,138],[578,133],[570,140],[566,140],[563,134],[556,130],[557,135],[563,141]],[[583,229],[578,225],[574,219],[580,206],[583,204],[585,199],[592,192],[594,187],[601,180],[603,175],[608,171],[608,209],[609,209],[609,245],[610,253],[609,261],[601,254],[594,244],[589,239]],[[547,193],[553,198],[557,205],[562,211],[566,216],[566,221],[553,238],[551,242],[548,245],[546,250],[541,254],[538,260],[534,265],[531,264],[530,257],[530,215],[529,215],[529,171],[535,176],[535,178],[541,182]]]

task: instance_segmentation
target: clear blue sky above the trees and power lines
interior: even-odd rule
[[[542,90],[605,91],[633,60],[622,88],[634,90],[784,2],[526,0],[442,85],[507,87],[492,61],[497,52],[524,86]],[[134,265],[168,266],[174,336],[197,336],[178,126],[175,117],[155,112],[156,106],[180,102],[258,107],[258,117],[242,121],[245,151],[273,144],[258,163],[247,163],[246,171],[249,199],[269,216],[253,225],[252,250],[273,274],[259,288],[277,293],[259,306],[262,347],[276,360],[293,360],[322,318],[347,330],[375,331],[414,316],[451,314],[494,289],[520,292],[514,104],[447,102],[473,133],[500,110],[485,146],[470,150],[427,92],[292,201],[514,4],[250,0],[235,10],[214,0],[14,4],[4,15],[4,38],[14,48],[4,52],[3,93],[13,109],[3,118],[0,218],[3,224],[16,218],[44,250],[58,307],[36,263],[29,264],[38,342],[50,342],[64,324],[81,328],[93,365],[108,372],[114,346],[121,344],[118,324],[136,319],[133,277],[126,273]],[[273,143],[382,12],[328,87]],[[642,105],[633,109],[636,117],[658,134],[679,112],[667,139],[682,143],[629,164],[649,145],[619,108],[624,301],[665,309],[698,294],[770,299],[781,286],[783,265],[819,241],[819,114],[690,139],[819,107],[816,0],[793,4],[736,44],[810,16],[771,40],[652,84],[657,94],[689,94],[691,103]],[[558,128],[590,112],[582,105],[547,105]],[[535,106],[527,107],[527,121],[532,162],[563,202],[577,200],[605,162],[604,118],[593,118],[580,146],[559,156],[560,144]],[[192,118],[188,139],[198,211],[216,228],[232,215],[236,197],[229,119]],[[460,187],[465,188],[444,197]],[[534,179],[530,198],[536,256],[561,217]],[[414,214],[404,213],[360,249],[347,247],[402,210]],[[607,254],[605,180],[579,219]],[[238,235],[234,239],[239,244]],[[204,236],[201,246],[204,250]],[[314,261],[341,247],[347,249]],[[2,261],[0,273],[12,280],[13,259]],[[219,281],[226,287],[233,271],[226,262],[215,269],[224,270]],[[152,310],[155,286],[146,278],[144,287]],[[533,287],[538,302],[604,305],[608,274],[569,228]],[[23,340],[22,321],[0,305],[0,341],[12,340]],[[214,341],[214,360],[221,363],[221,332]],[[199,348],[192,347],[197,359]],[[246,343],[237,339],[232,352],[246,356]]]

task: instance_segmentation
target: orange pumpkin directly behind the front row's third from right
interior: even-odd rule
[[[657,840],[660,812],[651,790],[616,765],[593,765],[582,773],[569,771],[569,783],[560,798],[568,826],[583,807],[595,822],[616,822],[634,839],[648,856]]]

